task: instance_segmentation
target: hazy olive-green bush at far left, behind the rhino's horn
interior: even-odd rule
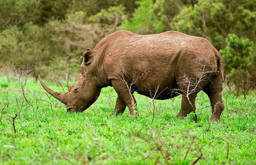
[[[78,59],[80,56],[77,55],[79,54],[77,48],[66,47],[65,41],[59,39],[65,35],[64,33],[66,32],[52,28],[50,25],[41,27],[32,23],[24,24],[21,30],[14,26],[2,31],[0,33],[1,72],[6,73],[6,68],[10,70],[12,63],[33,66],[36,69],[35,77],[38,74],[52,77],[53,71],[58,74],[59,71],[67,70],[68,63],[60,64],[70,59]],[[51,65],[57,67],[53,68]],[[73,68],[74,65],[70,67]],[[65,77],[65,75],[61,76]]]

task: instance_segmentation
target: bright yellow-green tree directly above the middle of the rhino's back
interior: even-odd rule
[[[170,30],[172,18],[183,6],[178,0],[141,0],[132,18],[122,21],[122,29],[139,34],[161,33]]]

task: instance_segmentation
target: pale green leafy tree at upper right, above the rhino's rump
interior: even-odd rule
[[[175,16],[174,30],[209,39],[219,50],[226,46],[229,33],[256,39],[256,4],[253,0],[198,0],[194,6],[184,6]]]

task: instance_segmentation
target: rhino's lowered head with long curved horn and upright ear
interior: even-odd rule
[[[89,108],[100,95],[101,88],[96,80],[94,51],[86,49],[80,67],[80,77],[74,86],[68,85],[67,93],[58,93],[48,88],[39,76],[44,90],[66,105],[67,112],[83,112]]]

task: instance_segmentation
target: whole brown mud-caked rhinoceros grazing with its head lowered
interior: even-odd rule
[[[138,35],[116,31],[104,37],[94,48],[83,53],[80,77],[67,93],[43,88],[66,105],[67,112],[83,112],[99,97],[106,86],[118,96],[113,114],[122,114],[128,106],[136,114],[134,92],[153,99],[182,96],[178,118],[195,112],[200,90],[210,98],[212,121],[220,120],[224,110],[222,83],[223,59],[205,38],[177,31]]]

